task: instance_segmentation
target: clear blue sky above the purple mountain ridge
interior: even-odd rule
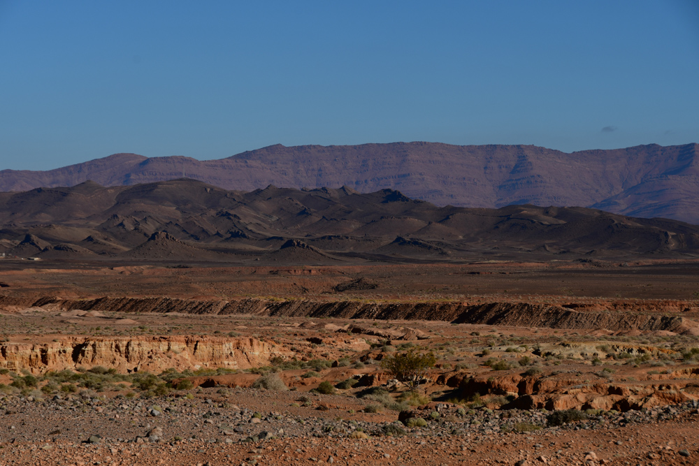
[[[699,0],[0,0],[0,169],[699,143]]]

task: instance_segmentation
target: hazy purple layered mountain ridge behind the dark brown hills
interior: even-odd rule
[[[436,205],[582,206],[699,224],[698,154],[698,144],[572,154],[531,145],[273,145],[220,160],[115,154],[56,170],[2,170],[0,191],[87,180],[131,185],[186,176],[238,191],[269,184],[296,189],[347,186],[364,193],[397,189]]]

